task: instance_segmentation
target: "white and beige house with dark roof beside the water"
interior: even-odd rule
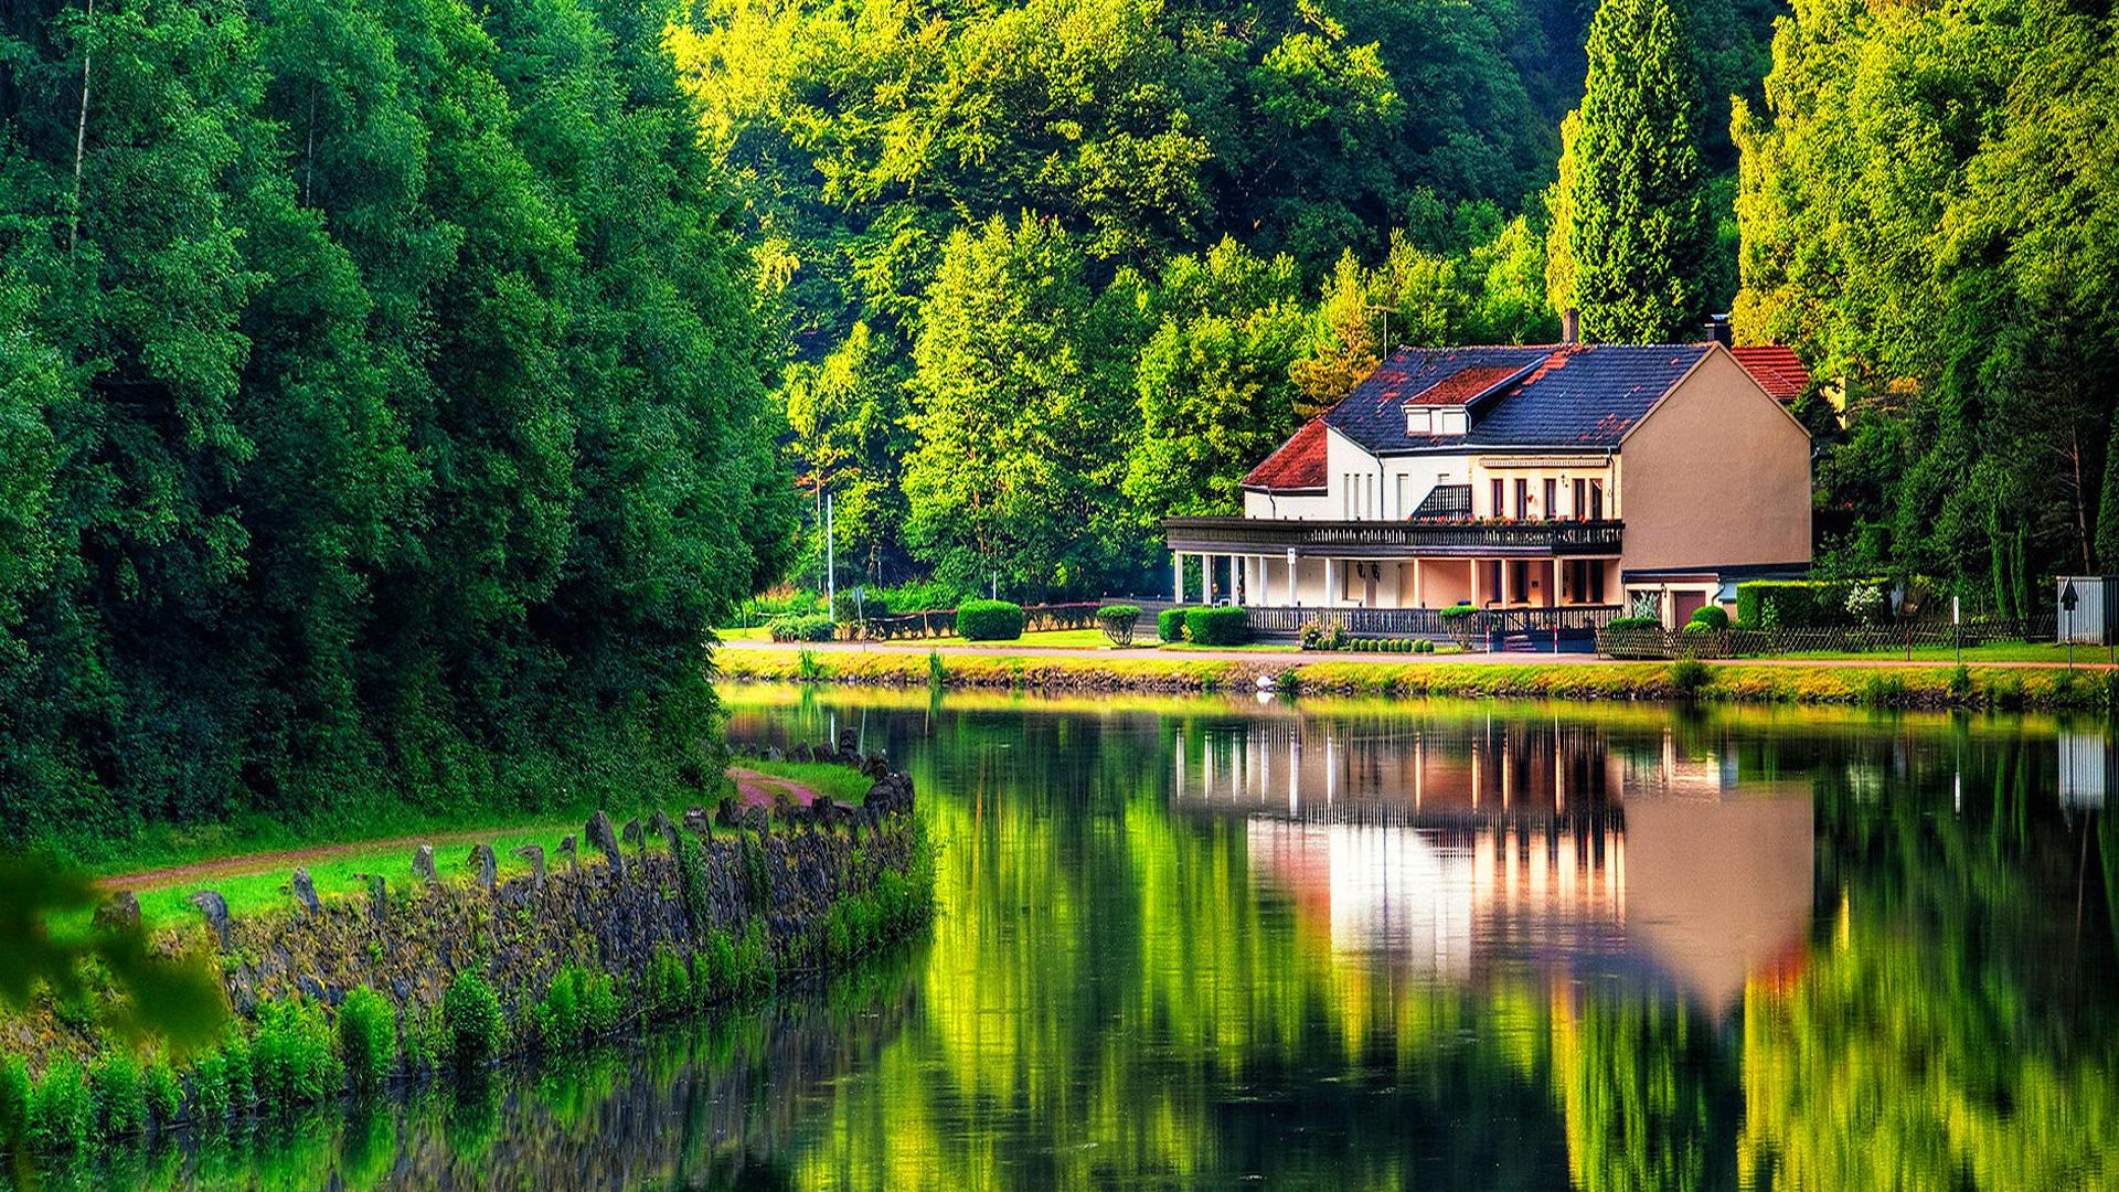
[[[1248,604],[1265,632],[1367,609],[1348,628],[1386,634],[1471,604],[1555,643],[1733,607],[1810,564],[1799,367],[1716,341],[1399,348],[1244,477],[1242,518],[1163,522],[1176,600]]]

